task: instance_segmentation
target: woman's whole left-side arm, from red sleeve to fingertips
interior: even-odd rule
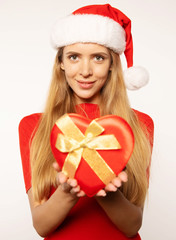
[[[54,164],[53,167],[58,172],[58,187],[56,191],[49,199],[43,200],[40,204],[34,201],[31,187],[30,142],[40,117],[41,114],[32,114],[21,120],[19,124],[19,140],[23,174],[33,225],[40,236],[46,237],[64,221],[83,193],[80,191],[79,186],[76,186],[72,181],[69,183],[70,186],[72,185],[69,190],[64,189],[65,185],[63,183],[67,183],[67,178],[63,177],[59,172],[58,164]]]

